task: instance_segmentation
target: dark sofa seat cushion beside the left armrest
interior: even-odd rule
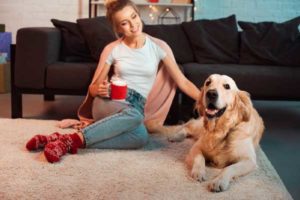
[[[47,67],[46,88],[87,89],[91,83],[97,63],[57,62]]]

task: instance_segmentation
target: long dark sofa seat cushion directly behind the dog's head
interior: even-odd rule
[[[232,77],[239,89],[249,92],[253,99],[300,98],[299,67],[198,63],[187,63],[182,67],[185,76],[199,87],[209,75],[217,73]]]

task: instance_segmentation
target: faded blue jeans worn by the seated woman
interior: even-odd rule
[[[145,98],[128,89],[128,106],[82,129],[86,148],[136,149],[148,142],[144,126]]]

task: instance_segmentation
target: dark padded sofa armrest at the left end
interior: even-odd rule
[[[46,68],[58,61],[61,34],[56,28],[22,28],[17,32],[15,86],[43,89]]]

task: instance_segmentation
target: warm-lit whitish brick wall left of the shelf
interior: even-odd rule
[[[0,0],[0,23],[13,33],[22,27],[52,26],[50,19],[88,17],[88,0]]]

